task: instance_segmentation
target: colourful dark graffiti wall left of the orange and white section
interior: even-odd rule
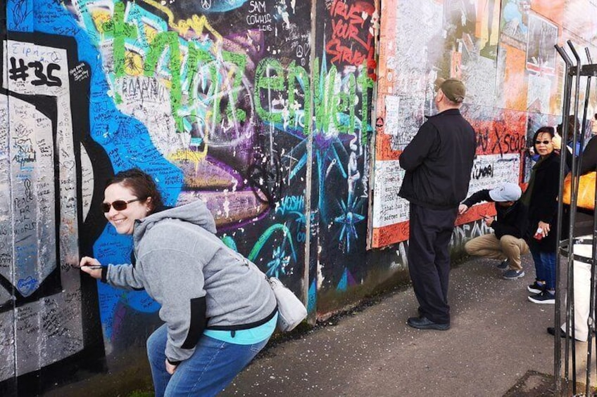
[[[71,381],[118,372],[160,323],[145,292],[71,268],[83,255],[131,262],[132,240],[99,209],[124,169],[149,172],[167,205],[205,201],[222,240],[312,320],[318,291],[365,277],[373,1],[2,9],[1,391],[60,383],[55,363]]]

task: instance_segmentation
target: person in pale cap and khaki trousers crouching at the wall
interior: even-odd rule
[[[502,262],[498,268],[504,270],[505,280],[516,280],[524,276],[520,256],[529,252],[529,246],[524,241],[524,233],[527,231],[528,211],[527,207],[520,202],[522,190],[516,183],[501,183],[491,190],[479,190],[468,197],[458,207],[458,212],[464,214],[468,209],[478,202],[495,202],[496,218],[483,216],[485,224],[494,229],[489,233],[467,241],[465,250],[469,255],[486,256],[492,259],[500,259]]]

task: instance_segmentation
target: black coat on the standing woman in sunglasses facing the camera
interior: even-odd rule
[[[557,249],[555,240],[556,226],[558,225],[558,190],[560,188],[560,155],[552,152],[551,155],[533,167],[534,183],[532,191],[524,192],[529,197],[529,228],[527,241],[529,245],[536,245],[542,251],[553,252]],[[551,231],[542,240],[535,240],[533,235],[537,230],[539,221],[549,223]]]

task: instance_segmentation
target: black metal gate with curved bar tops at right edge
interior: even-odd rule
[[[565,62],[565,85],[563,92],[563,122],[562,122],[562,142],[563,148],[561,150],[561,164],[560,164],[560,191],[558,201],[558,241],[560,242],[559,252],[561,254],[556,256],[556,271],[555,276],[558,282],[557,285],[562,285],[560,278],[562,278],[562,269],[560,266],[566,266],[566,287],[567,299],[565,299],[565,330],[560,329],[563,324],[562,313],[560,311],[560,288],[556,289],[555,293],[555,349],[554,349],[554,377],[555,390],[560,396],[591,396],[591,366],[593,363],[593,337],[596,332],[595,324],[595,286],[596,286],[596,272],[595,261],[597,249],[597,222],[593,214],[592,234],[589,235],[575,235],[577,233],[574,227],[577,218],[577,204],[579,191],[580,169],[583,161],[582,150],[576,148],[584,148],[584,136],[586,133],[586,113],[589,108],[589,95],[591,93],[591,78],[597,76],[597,64],[593,64],[589,48],[585,48],[586,63],[584,64],[581,57],[577,53],[572,41],[567,41],[567,45],[572,53],[572,58],[568,56],[565,48],[556,45],[555,49]],[[584,91],[584,106],[580,109],[580,98],[582,98],[582,80],[586,81],[586,88]],[[582,122],[579,121],[579,114],[582,112]],[[570,123],[568,117],[573,115],[574,122],[572,131],[570,131]],[[580,124],[580,125],[578,125]],[[566,149],[566,143],[572,143],[572,153]],[[565,177],[568,174],[567,158],[572,156],[572,167],[570,167],[570,207],[568,208],[563,202],[563,188]],[[597,197],[597,196],[596,196]],[[594,207],[593,207],[594,208]],[[567,210],[570,214],[570,222],[565,224],[563,222],[564,211]],[[594,210],[593,210],[594,212]],[[566,228],[567,230],[563,230]],[[567,232],[567,233],[566,233]],[[578,233],[577,233],[578,234]],[[563,236],[567,238],[563,238]],[[586,254],[580,255],[579,248],[582,245],[591,246],[591,256]],[[560,259],[564,257],[565,259]],[[574,338],[574,261],[577,263],[586,263],[591,268],[590,280],[590,301],[589,301],[589,318],[587,325],[589,326],[588,342],[586,344],[586,378],[585,390],[578,391],[577,387],[577,353],[576,353],[576,339]],[[564,281],[564,280],[562,280]],[[564,346],[560,339],[560,332],[565,332],[571,337],[565,338]],[[564,366],[564,368],[562,368]],[[597,366],[596,366],[597,367]],[[562,372],[563,370],[563,372]],[[560,374],[563,373],[563,376]],[[579,379],[582,382],[582,379]]]

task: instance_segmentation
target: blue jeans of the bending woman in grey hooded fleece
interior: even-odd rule
[[[156,397],[215,396],[232,382],[269,340],[241,345],[203,335],[193,355],[178,365],[174,375],[170,375],[165,368],[167,333],[168,326],[164,324],[147,339],[147,356]]]

